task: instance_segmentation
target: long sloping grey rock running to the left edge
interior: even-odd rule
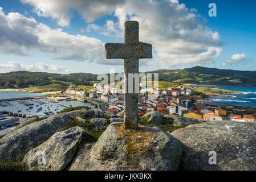
[[[46,141],[71,121],[68,115],[55,114],[12,131],[0,139],[0,159],[11,158],[16,161],[19,155],[25,155],[34,144]]]

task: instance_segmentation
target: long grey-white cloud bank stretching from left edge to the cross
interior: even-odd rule
[[[5,15],[0,7],[0,50],[6,54],[29,55],[30,50],[52,52],[55,59],[112,64],[105,59],[104,43],[83,35],[70,35],[19,13]]]

